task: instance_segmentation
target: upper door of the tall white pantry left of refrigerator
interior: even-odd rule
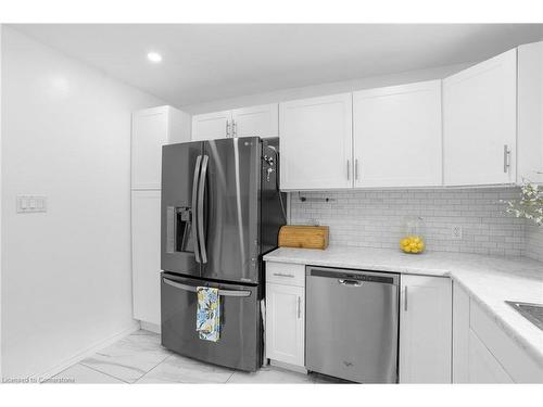
[[[168,140],[167,106],[132,114],[131,188],[160,189],[162,145]]]

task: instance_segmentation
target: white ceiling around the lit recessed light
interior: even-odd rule
[[[176,106],[477,62],[543,38],[542,24],[12,27]]]

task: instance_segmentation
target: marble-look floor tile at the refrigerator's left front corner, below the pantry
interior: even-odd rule
[[[138,331],[81,360],[81,364],[134,383],[169,355],[172,353],[161,346],[160,335]]]

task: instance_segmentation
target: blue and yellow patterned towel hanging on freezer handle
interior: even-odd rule
[[[197,287],[197,331],[201,340],[217,342],[220,336],[218,289]]]

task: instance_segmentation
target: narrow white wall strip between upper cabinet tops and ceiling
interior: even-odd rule
[[[470,64],[447,65],[429,69],[404,72],[393,75],[372,76],[355,80],[337,81],[302,88],[282,89],[267,93],[248,94],[238,98],[217,100],[213,102],[190,104],[181,106],[179,109],[191,114],[209,113],[257,104],[277,103],[287,100],[313,98],[324,94],[351,92],[358,89],[370,89],[381,86],[393,86],[420,80],[441,79],[464,69],[468,65]]]

